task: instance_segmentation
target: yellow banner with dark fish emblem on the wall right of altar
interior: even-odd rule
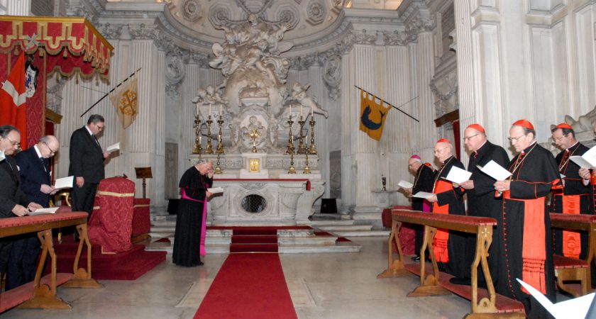
[[[383,101],[377,103],[374,95],[360,90],[360,130],[370,138],[381,140],[390,108],[385,108]]]

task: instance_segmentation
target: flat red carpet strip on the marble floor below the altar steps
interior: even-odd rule
[[[297,318],[277,254],[230,254],[194,318]]]

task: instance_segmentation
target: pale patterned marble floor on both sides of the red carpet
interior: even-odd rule
[[[407,298],[418,277],[376,279],[387,267],[385,237],[354,237],[360,252],[281,254],[299,318],[462,318],[470,303],[458,296]],[[72,310],[12,309],[1,318],[192,318],[226,254],[205,265],[165,263],[136,281],[101,281],[103,289],[58,288]]]

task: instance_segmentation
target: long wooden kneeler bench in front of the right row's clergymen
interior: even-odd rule
[[[495,219],[394,209],[392,211],[389,247],[392,247],[393,242],[399,243],[399,228],[402,227],[402,223],[424,225],[424,243],[422,244],[420,263],[404,264],[402,248],[397,245],[397,258],[394,258],[392,250],[389,249],[388,268],[385,272],[379,274],[377,278],[404,276],[404,274],[409,274],[410,272],[419,275],[420,286],[409,293],[409,297],[439,296],[450,294],[451,292],[456,293],[471,301],[472,312],[466,318],[525,318],[524,305],[511,298],[497,295],[495,293],[495,287],[492,284],[487,256],[488,249],[492,243],[492,227],[497,225]],[[451,284],[449,283],[449,279],[452,276],[438,271],[438,265],[432,248],[432,242],[437,228],[476,234],[476,252],[474,261],[470,267],[472,281],[470,287]],[[431,257],[432,269],[426,269],[424,251],[426,251],[427,247]],[[487,289],[478,289],[478,265],[482,267]]]

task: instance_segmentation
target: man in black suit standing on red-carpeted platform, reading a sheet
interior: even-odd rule
[[[104,179],[104,159],[109,153],[101,150],[96,135],[104,129],[104,117],[89,116],[87,125],[75,130],[70,137],[69,176],[75,177],[72,186],[72,211],[86,211],[91,215],[97,185]]]

